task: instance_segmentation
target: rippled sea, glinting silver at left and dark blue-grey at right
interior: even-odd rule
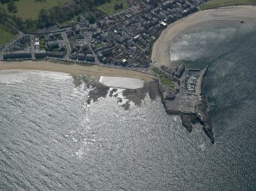
[[[203,94],[215,143],[187,132],[160,97],[125,110],[116,96],[57,72],[0,72],[0,190],[256,190],[256,22],[210,21],[170,44],[209,66]],[[118,98],[119,97],[119,98]]]

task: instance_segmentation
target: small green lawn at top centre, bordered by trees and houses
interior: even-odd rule
[[[115,10],[115,5],[117,5],[119,3],[123,3],[123,8]],[[105,12],[106,14],[112,15],[112,14],[118,13],[122,10],[125,10],[126,8],[129,8],[129,7],[130,7],[130,5],[128,3],[128,0],[110,0],[110,2],[106,2],[105,4],[100,5],[97,8],[100,11]]]

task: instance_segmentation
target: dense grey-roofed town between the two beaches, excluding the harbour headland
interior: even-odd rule
[[[34,33],[17,29],[17,39],[0,47],[0,60],[56,59],[147,70],[152,46],[160,33],[168,24],[199,11],[203,2],[206,1],[131,0],[129,8],[113,15],[102,13],[94,24],[89,23],[86,10],[79,14],[76,24],[56,23]]]

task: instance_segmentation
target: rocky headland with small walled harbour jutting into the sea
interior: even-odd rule
[[[201,91],[207,68],[208,66],[199,70],[162,65],[153,70],[160,81],[159,91],[166,112],[169,115],[179,115],[188,132],[192,132],[194,124],[202,124],[204,132],[214,143],[212,122],[207,115],[208,104]]]

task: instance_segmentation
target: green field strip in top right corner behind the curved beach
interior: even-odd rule
[[[212,0],[200,6],[201,10],[221,8],[232,5],[256,5],[256,0]]]

